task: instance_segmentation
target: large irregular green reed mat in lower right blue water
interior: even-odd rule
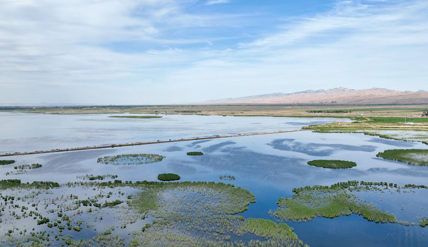
[[[355,213],[369,221],[415,224],[397,221],[393,214],[382,211],[376,205],[368,203],[352,193],[353,191],[386,189],[400,191],[415,188],[426,189],[427,187],[414,184],[399,187],[397,184],[386,182],[348,181],[332,186],[315,185],[294,188],[294,195],[279,198],[278,208],[270,213],[277,218],[293,221],[308,221],[315,217],[335,218]]]

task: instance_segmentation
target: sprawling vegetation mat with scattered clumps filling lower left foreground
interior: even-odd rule
[[[1,246],[303,245],[284,223],[236,215],[255,197],[230,184],[4,183]]]

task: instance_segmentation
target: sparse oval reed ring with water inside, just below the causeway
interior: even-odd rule
[[[100,157],[96,162],[106,165],[142,165],[161,162],[164,158],[157,154],[128,154]]]

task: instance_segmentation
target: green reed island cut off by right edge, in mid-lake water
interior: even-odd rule
[[[391,149],[377,154],[376,157],[409,165],[428,166],[428,149]]]

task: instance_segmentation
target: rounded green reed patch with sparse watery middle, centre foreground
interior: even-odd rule
[[[250,191],[224,183],[143,181],[136,185],[147,190],[137,194],[133,204],[139,211],[154,210],[155,216],[160,217],[182,210],[199,214],[236,214],[247,210],[247,206],[255,201]]]

